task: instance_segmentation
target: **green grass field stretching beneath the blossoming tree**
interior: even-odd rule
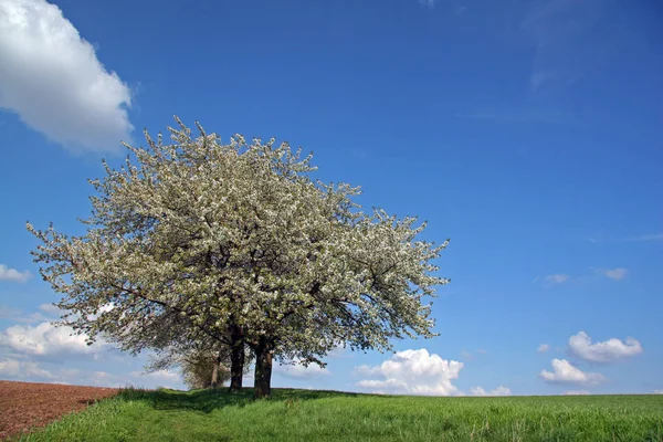
[[[663,441],[663,396],[124,390],[24,441]]]

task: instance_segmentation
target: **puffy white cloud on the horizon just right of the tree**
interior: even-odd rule
[[[379,378],[361,380],[357,386],[377,393],[457,394],[452,380],[459,377],[462,368],[463,362],[430,355],[424,348],[398,351],[379,366],[357,367],[358,375]]]

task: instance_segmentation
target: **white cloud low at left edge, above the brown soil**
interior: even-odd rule
[[[74,335],[71,327],[41,323],[34,327],[13,325],[0,332],[0,345],[25,356],[65,357],[94,355],[105,349],[104,343],[88,346],[84,335]]]

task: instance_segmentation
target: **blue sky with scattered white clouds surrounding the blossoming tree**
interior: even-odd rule
[[[101,159],[177,114],[313,150],[365,207],[451,239],[439,337],[275,386],[663,391],[661,19],[617,0],[0,1],[0,378],[181,386],[48,324],[24,229],[81,233]]]

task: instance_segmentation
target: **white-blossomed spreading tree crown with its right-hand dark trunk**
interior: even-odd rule
[[[415,218],[365,213],[359,188],[314,180],[312,156],[287,143],[222,144],[176,120],[171,144],[146,131],[122,168],[104,161],[84,235],[28,223],[65,323],[129,350],[162,345],[173,323],[238,355],[248,345],[256,397],[270,394],[274,356],[319,362],[339,344],[434,336],[424,298],[449,282],[432,263],[448,241],[417,240]]]

